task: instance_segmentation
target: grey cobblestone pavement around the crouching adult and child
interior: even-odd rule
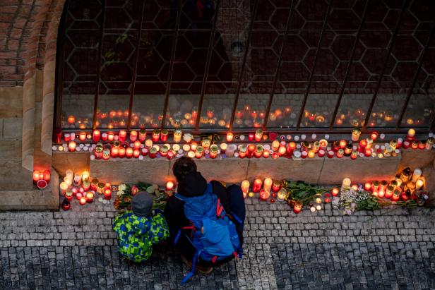
[[[244,258],[184,287],[189,269],[167,246],[143,265],[119,258],[112,205],[0,212],[0,289],[435,289],[435,210],[246,203]]]

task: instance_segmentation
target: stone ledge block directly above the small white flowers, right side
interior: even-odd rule
[[[345,177],[350,178],[352,182],[372,179],[390,180],[395,176],[399,164],[400,155],[383,159],[365,157],[355,160],[349,157],[326,159],[318,183],[337,184]]]

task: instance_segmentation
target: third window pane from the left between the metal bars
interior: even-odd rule
[[[144,4],[131,127],[160,128],[177,6]]]

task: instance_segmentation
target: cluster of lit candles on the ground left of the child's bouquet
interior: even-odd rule
[[[67,170],[63,181],[59,184],[59,191],[68,201],[71,201],[75,196],[80,205],[85,205],[93,203],[95,193],[104,195],[106,200],[110,200],[112,191],[116,191],[116,188],[112,188],[110,183],[90,179],[88,171],[74,174],[73,171]]]

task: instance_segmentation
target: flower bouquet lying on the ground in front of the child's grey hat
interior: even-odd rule
[[[131,210],[131,199],[139,191],[146,191],[153,195],[153,209],[163,210],[166,205],[166,193],[156,184],[139,182],[134,185],[126,183],[118,186],[116,198],[114,200],[114,208],[118,211]]]

